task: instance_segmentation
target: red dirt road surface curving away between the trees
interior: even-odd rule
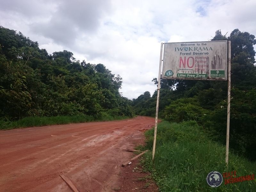
[[[154,123],[138,116],[0,131],[0,191],[72,192],[60,172],[79,192],[115,191],[121,164],[133,157],[121,149],[142,143]]]

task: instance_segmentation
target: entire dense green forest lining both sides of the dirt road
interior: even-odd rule
[[[230,147],[256,160],[255,36],[235,29],[212,38],[231,41]],[[154,78],[152,84],[157,84]],[[226,142],[227,82],[161,79],[159,116],[194,120],[213,140]],[[48,54],[22,33],[0,26],[0,120],[106,114],[155,116],[156,92],[122,97],[122,78],[103,64],[80,62],[67,50]]]

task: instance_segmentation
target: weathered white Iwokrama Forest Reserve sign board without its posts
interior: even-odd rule
[[[165,43],[163,79],[227,80],[227,41]]]

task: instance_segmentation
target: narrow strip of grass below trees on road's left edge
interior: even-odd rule
[[[128,119],[128,116],[102,115],[99,118],[93,116],[52,116],[52,117],[25,117],[18,121],[0,120],[0,130],[9,130],[25,127],[39,127],[46,125],[84,123],[92,121],[113,121]]]

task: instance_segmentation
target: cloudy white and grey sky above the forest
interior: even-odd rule
[[[104,64],[129,99],[155,91],[161,42],[208,41],[235,28],[256,35],[255,0],[0,0],[0,25],[48,53]]]

